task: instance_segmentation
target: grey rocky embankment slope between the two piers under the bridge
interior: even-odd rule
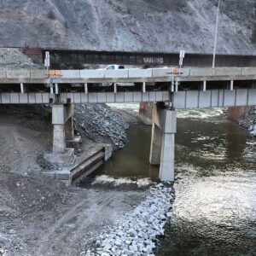
[[[106,104],[75,106],[75,125],[97,143],[112,143],[113,148],[124,148],[129,124]]]

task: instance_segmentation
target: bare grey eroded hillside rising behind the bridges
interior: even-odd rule
[[[0,1],[0,45],[212,53],[216,0]],[[256,54],[256,1],[223,1],[218,53]]]

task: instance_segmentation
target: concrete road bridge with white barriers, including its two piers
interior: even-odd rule
[[[73,104],[155,102],[150,163],[173,181],[175,109],[256,105],[255,81],[256,67],[0,71],[0,104],[52,105],[53,151],[45,158],[68,166]]]

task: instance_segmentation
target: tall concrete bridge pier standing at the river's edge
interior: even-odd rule
[[[160,165],[159,177],[161,181],[173,182],[177,113],[154,103],[152,122],[150,164]]]

